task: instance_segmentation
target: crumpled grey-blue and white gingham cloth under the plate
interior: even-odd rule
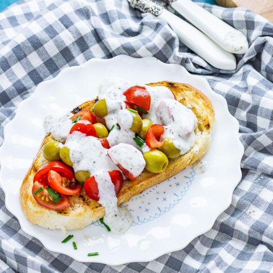
[[[240,123],[243,178],[232,204],[186,248],[146,263],[80,263],[24,233],[0,190],[0,269],[5,272],[270,272],[273,269],[273,24],[242,9],[203,5],[245,33],[235,71],[215,69],[175,33],[126,0],[20,0],[0,13],[0,137],[18,104],[61,69],[119,54],[154,56],[203,74]],[[223,155],[224,156],[224,155]]]

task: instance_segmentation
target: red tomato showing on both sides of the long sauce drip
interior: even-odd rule
[[[118,195],[118,193],[121,191],[121,188],[123,186],[122,173],[117,170],[110,171],[108,173],[111,177],[112,183],[115,186],[116,195]],[[98,189],[98,184],[97,184],[94,176],[91,176],[90,178],[88,178],[85,181],[84,190],[85,190],[88,197],[90,197],[91,199],[93,199],[95,201],[99,201],[99,189]]]

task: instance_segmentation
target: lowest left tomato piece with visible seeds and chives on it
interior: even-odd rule
[[[35,193],[40,188],[42,188],[43,190],[40,193],[33,195],[34,199],[39,205],[53,210],[61,210],[70,205],[69,199],[66,196],[62,195],[61,195],[62,199],[55,204],[53,202],[52,196],[48,193],[48,190],[45,188],[45,185],[38,181],[34,182],[32,186],[32,193]]]

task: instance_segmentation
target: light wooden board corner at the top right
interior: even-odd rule
[[[273,0],[216,0],[221,6],[245,7],[273,22]]]

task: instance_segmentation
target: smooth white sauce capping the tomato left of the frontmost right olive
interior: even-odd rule
[[[120,164],[123,168],[137,177],[145,167],[145,160],[142,153],[134,146],[127,143],[120,143],[108,150],[108,155],[113,163]]]

